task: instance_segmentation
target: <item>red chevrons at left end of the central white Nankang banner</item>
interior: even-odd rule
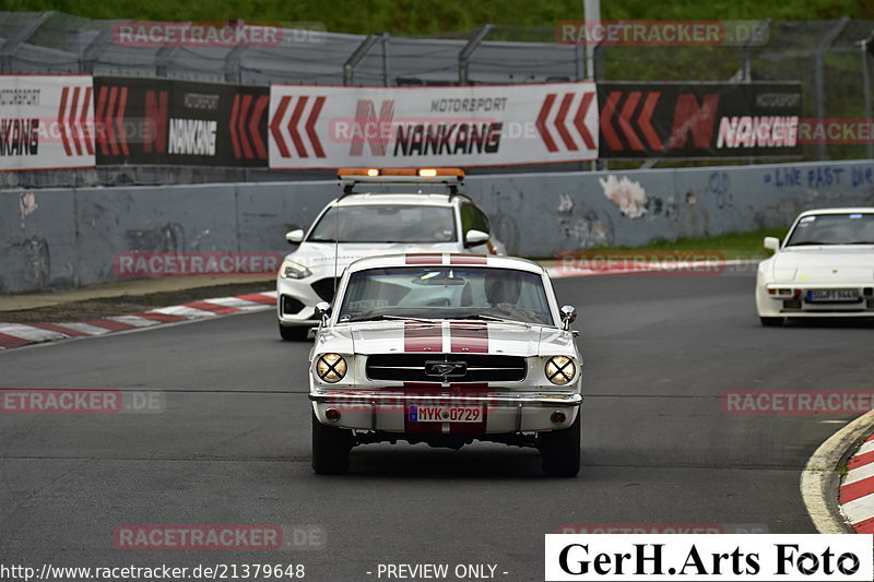
[[[310,153],[312,153],[315,157],[324,157],[324,150],[316,132],[316,122],[319,120],[319,115],[324,106],[324,96],[312,97],[312,105],[309,107],[309,111],[306,116],[304,112],[310,100],[309,96],[285,95],[280,99],[280,104],[270,122],[270,133],[276,142],[276,149],[282,157],[294,156],[291,149],[292,144],[297,153],[297,157],[309,157]],[[292,107],[293,104],[294,107]],[[306,119],[306,121],[304,121],[304,119]],[[302,121],[304,122],[303,127]],[[288,131],[291,144],[283,134],[283,128]],[[304,136],[306,136],[306,140],[309,142],[309,149],[307,149]]]

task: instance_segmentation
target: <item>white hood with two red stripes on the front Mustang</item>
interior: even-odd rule
[[[322,330],[314,351],[390,354],[458,353],[578,357],[570,332],[544,325],[485,321],[373,321]]]

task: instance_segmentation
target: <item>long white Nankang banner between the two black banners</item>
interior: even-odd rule
[[[270,90],[270,167],[504,166],[598,156],[594,84]]]

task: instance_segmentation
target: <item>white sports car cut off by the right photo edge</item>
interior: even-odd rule
[[[874,209],[803,212],[756,276],[763,325],[787,318],[874,316]]]

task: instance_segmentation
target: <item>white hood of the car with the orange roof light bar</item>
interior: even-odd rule
[[[330,271],[333,270],[335,260],[335,276],[340,276],[343,269],[351,262],[364,257],[413,252],[459,252],[459,248],[453,242],[437,242],[433,245],[346,242],[336,246],[332,242],[302,242],[297,250],[288,253],[285,259],[303,264],[312,272],[323,273],[328,271],[329,275]]]

